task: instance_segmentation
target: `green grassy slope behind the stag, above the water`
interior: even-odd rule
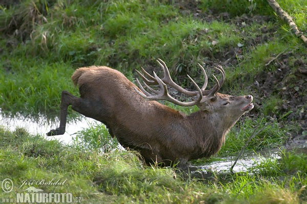
[[[289,2],[280,1],[296,17],[302,31],[306,24],[303,2],[296,1],[290,6]],[[189,10],[186,4],[165,2],[28,0],[2,6],[2,111],[54,112],[58,109],[61,90],[76,93],[69,78],[80,66],[111,66],[132,80],[136,76],[132,70],[157,66],[155,59],[162,58],[175,80],[189,73],[199,81],[201,71],[196,63],[218,63],[229,48],[241,43],[240,55],[244,58],[224,66],[227,81],[223,90],[229,91],[238,81],[250,84],[255,74],[267,70],[264,61],[285,47],[298,48],[294,51],[298,56],[304,52],[300,39],[287,30],[287,25],[274,15],[266,2],[223,0],[219,4],[211,1],[193,4],[198,12],[208,9],[228,12],[232,19],[204,21],[194,17],[195,11]],[[241,26],[242,22],[234,17],[243,14],[271,15],[271,20],[247,21],[246,26]],[[264,26],[273,34],[261,34],[259,31]],[[252,46],[247,43],[264,36],[268,39]],[[218,42],[215,46],[213,40]],[[211,69],[207,68],[207,72],[210,74]],[[185,85],[186,78],[181,82]]]

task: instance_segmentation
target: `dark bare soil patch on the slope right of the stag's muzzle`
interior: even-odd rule
[[[255,75],[253,91],[260,101],[266,101],[272,95],[280,98],[280,104],[276,110],[280,115],[291,112],[288,120],[299,120],[305,126],[307,119],[304,106],[307,101],[307,69],[301,59],[293,59],[293,65],[289,60],[291,57],[299,57],[293,52],[283,54],[279,60],[274,62],[274,67],[268,71],[262,71]],[[251,88],[252,91],[252,88]],[[276,116],[275,116],[276,117]]]

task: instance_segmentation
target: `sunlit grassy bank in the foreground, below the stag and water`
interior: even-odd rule
[[[257,164],[246,173],[213,174],[207,180],[183,179],[172,168],[144,167],[137,153],[84,151],[30,136],[23,129],[0,129],[0,181],[14,189],[1,198],[16,198],[29,186],[44,193],[72,193],[88,202],[300,203],[307,201],[306,155],[280,151],[281,159]],[[63,185],[24,185],[24,180]]]

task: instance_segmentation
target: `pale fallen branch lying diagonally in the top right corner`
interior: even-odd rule
[[[291,16],[283,11],[275,0],[267,0],[269,5],[274,9],[275,13],[283,20],[289,23],[291,31],[307,45],[307,38],[300,32],[293,22]]]

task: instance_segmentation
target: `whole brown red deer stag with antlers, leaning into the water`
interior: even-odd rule
[[[158,61],[158,60],[157,60]],[[210,90],[205,83],[200,88],[189,76],[197,91],[188,91],[177,85],[170,78],[166,64],[159,59],[164,71],[160,79],[139,71],[148,93],[137,80],[138,88],[121,72],[105,66],[91,66],[77,69],[72,75],[75,86],[79,85],[80,98],[68,91],[62,91],[60,127],[47,135],[61,135],[65,132],[68,106],[86,117],[94,118],[106,125],[109,134],[129,149],[140,152],[145,162],[158,162],[171,165],[180,162],[185,166],[188,160],[209,158],[216,154],[225,143],[225,135],[234,123],[248,110],[253,108],[251,95],[231,96],[217,93],[224,80],[225,71],[216,68],[222,78]],[[166,84],[196,99],[182,102],[171,97]],[[159,85],[156,91],[149,85]],[[179,106],[198,106],[199,111],[185,115],[177,110],[160,104],[156,100],[168,100]]]

